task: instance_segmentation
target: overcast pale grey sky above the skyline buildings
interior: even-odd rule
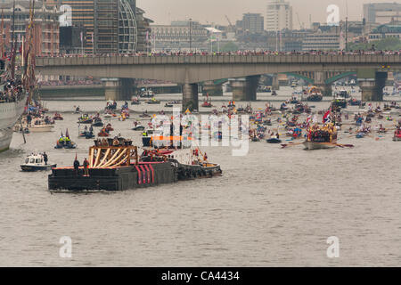
[[[287,0],[292,5],[293,25],[299,28],[297,12],[301,22],[325,22],[327,6],[337,4],[340,7],[340,19],[345,20],[346,0]],[[392,3],[400,0],[348,0],[348,19],[362,20],[363,4]],[[145,16],[154,20],[155,24],[169,24],[171,20],[199,20],[201,23],[217,23],[226,25],[225,14],[235,24],[244,12],[266,14],[267,0],[136,0],[137,6],[143,8]]]

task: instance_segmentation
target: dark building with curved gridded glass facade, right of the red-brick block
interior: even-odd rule
[[[71,25],[85,30],[85,53],[142,51],[149,24],[135,0],[46,0],[57,7],[70,6]],[[148,26],[148,27],[143,27]]]

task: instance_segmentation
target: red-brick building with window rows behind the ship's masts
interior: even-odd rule
[[[33,49],[37,55],[55,55],[59,53],[59,16],[55,7],[45,3],[35,2],[35,15],[33,20]],[[2,17],[3,14],[3,17]],[[0,49],[10,51],[12,46],[12,29],[14,29],[14,42],[17,50],[26,41],[29,27],[29,1],[15,2],[14,25],[12,26],[12,1],[0,3]],[[26,46],[25,46],[26,47]]]

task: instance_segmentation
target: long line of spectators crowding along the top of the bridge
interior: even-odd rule
[[[308,52],[276,52],[276,51],[266,51],[266,50],[253,50],[253,51],[237,51],[237,52],[227,52],[227,53],[218,53],[218,52],[189,52],[189,51],[179,51],[179,52],[150,52],[150,53],[95,53],[95,54],[60,54],[54,55],[56,58],[71,58],[71,57],[114,57],[114,56],[123,56],[123,57],[132,57],[132,56],[194,56],[194,55],[384,55],[384,54],[401,54],[401,50],[399,51],[375,51],[375,50],[355,50],[355,51],[308,51]],[[40,56],[38,56],[40,57]],[[49,57],[49,56],[43,56]]]

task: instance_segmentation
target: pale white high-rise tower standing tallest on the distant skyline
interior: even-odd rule
[[[268,0],[265,20],[266,31],[292,29],[292,6],[284,0]]]

